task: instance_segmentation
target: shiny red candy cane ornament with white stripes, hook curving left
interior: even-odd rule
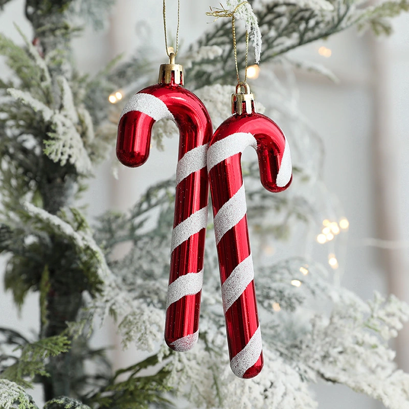
[[[135,94],[119,121],[117,157],[129,167],[149,156],[152,126],[163,118],[179,128],[175,214],[171,244],[165,340],[175,351],[196,344],[203,281],[209,183],[206,154],[213,128],[203,103],[183,87],[183,66],[162,64],[157,85]]]

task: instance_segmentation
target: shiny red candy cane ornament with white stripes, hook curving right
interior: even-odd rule
[[[245,93],[238,92],[242,86]],[[219,126],[210,142],[208,172],[230,367],[240,378],[253,378],[263,368],[263,352],[241,154],[247,146],[256,149],[261,183],[270,192],[290,185],[291,156],[281,129],[256,113],[246,83],[237,85],[232,111],[234,115]]]

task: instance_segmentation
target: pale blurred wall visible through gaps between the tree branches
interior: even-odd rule
[[[171,27],[176,21],[176,10],[171,3],[176,1],[168,0],[169,27],[174,35]],[[181,4],[180,55],[207,29],[212,18],[205,13],[209,5],[217,7],[218,2],[196,0]],[[10,3],[0,13],[0,30],[20,44],[22,40],[13,23],[31,37],[22,0]],[[79,70],[95,73],[113,57],[130,57],[141,46],[149,50],[157,64],[167,62],[162,24],[162,2],[118,0],[104,30],[94,32],[87,28],[75,41]],[[409,15],[395,19],[394,27],[391,37],[381,39],[370,34],[359,36],[352,29],[328,41],[308,44],[291,56],[324,64],[339,79],[333,83],[317,74],[295,73],[299,109],[322,138],[325,149],[322,178],[326,188],[320,190],[323,208],[328,202],[328,208],[336,207],[348,220],[336,238],[336,252],[332,242],[315,241],[314,255],[332,264],[342,285],[363,299],[371,298],[373,291],[378,290],[409,302]],[[0,73],[7,75],[1,60]],[[254,89],[268,89],[262,64],[259,74],[259,78],[251,80]],[[232,73],[232,83],[234,79]],[[258,100],[268,105],[268,93],[260,93]],[[287,137],[291,139],[291,135]],[[112,149],[110,161],[98,169],[83,198],[88,215],[95,217],[107,209],[126,210],[147,186],[173,174],[177,140],[165,142],[165,151],[154,149],[151,160],[142,168],[120,166],[118,180],[112,176],[112,167],[117,166]],[[331,220],[331,216],[328,214],[327,218]],[[324,224],[317,225],[312,232],[317,241],[323,228]],[[0,260],[0,274],[3,266],[4,261]],[[37,306],[37,297],[31,296],[18,314],[0,277],[0,326],[29,335],[38,330]],[[116,367],[129,365],[136,358],[134,351],[120,351],[113,325],[98,331],[94,343],[114,347],[111,357]],[[409,371],[408,326],[395,348],[398,365]],[[320,408],[383,407],[344,387],[319,384],[315,389]],[[41,402],[39,390],[33,396]]]

